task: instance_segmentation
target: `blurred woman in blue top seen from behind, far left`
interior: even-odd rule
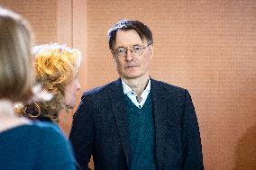
[[[72,170],[76,161],[69,141],[52,123],[14,114],[14,103],[37,95],[31,36],[22,16],[0,6],[0,169]]]

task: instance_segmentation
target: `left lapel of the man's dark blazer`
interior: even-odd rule
[[[109,98],[112,103],[114,112],[114,119],[116,121],[117,129],[122,140],[124,155],[126,157],[127,166],[130,166],[130,132],[128,125],[128,118],[124,108],[124,94],[121,79],[114,81],[110,86]]]

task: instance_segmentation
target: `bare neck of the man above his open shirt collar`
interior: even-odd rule
[[[138,95],[141,96],[142,91],[146,88],[146,86],[148,85],[149,82],[149,76],[140,76],[137,78],[133,78],[133,79],[127,79],[127,78],[123,78],[121,77],[122,80],[129,85],[132,90]]]

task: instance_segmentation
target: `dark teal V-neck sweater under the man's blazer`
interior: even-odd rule
[[[141,109],[127,95],[125,95],[125,105],[130,129],[130,170],[154,170],[156,168],[151,93]]]

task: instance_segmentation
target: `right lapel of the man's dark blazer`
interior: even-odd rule
[[[166,118],[168,113],[169,94],[157,81],[151,79],[151,94],[155,125],[155,157],[157,169],[162,169],[163,149],[166,133]]]

